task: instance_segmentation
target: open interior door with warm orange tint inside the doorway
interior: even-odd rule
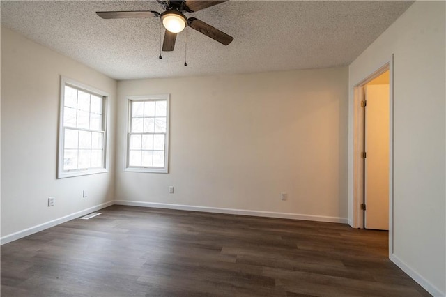
[[[365,86],[364,224],[389,229],[389,85]]]

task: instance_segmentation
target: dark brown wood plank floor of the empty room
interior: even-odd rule
[[[1,296],[430,296],[387,232],[110,206],[1,246]]]

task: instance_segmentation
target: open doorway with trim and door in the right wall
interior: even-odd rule
[[[393,253],[393,56],[380,68],[355,84],[353,93],[353,222],[352,226],[361,229],[388,229],[389,254]],[[378,87],[383,85],[383,87]],[[384,87],[385,86],[385,87]],[[377,107],[373,100],[376,94],[387,93],[385,106]],[[368,98],[366,98],[366,96]],[[369,102],[367,102],[367,99]],[[364,105],[364,106],[362,106]],[[367,109],[369,107],[369,109]],[[376,107],[376,108],[375,108]],[[367,114],[378,110],[378,116]],[[383,116],[379,110],[384,109]],[[376,111],[375,111],[376,112]],[[375,117],[375,119],[374,119]],[[386,119],[387,118],[387,119]],[[370,122],[377,122],[381,132],[367,133]],[[387,122],[387,123],[383,123]],[[385,129],[383,131],[383,129]],[[368,134],[368,135],[367,135]],[[368,136],[372,136],[371,139]],[[384,139],[384,141],[383,141]],[[385,140],[387,139],[387,143]],[[379,142],[374,151],[373,142]],[[371,151],[370,151],[371,149]],[[367,150],[369,150],[367,152]],[[373,156],[372,156],[373,155]],[[376,159],[377,161],[374,161]],[[378,164],[381,163],[381,164]],[[382,164],[384,163],[384,165]],[[387,165],[386,165],[387,164]],[[377,168],[374,168],[376,165]],[[379,165],[379,166],[378,166]],[[387,168],[387,169],[383,169]],[[380,172],[379,180],[369,181],[371,171]],[[367,174],[367,172],[369,172]],[[376,183],[376,184],[374,184]],[[375,193],[374,193],[375,192]],[[387,192],[387,195],[385,195]],[[384,193],[384,194],[383,194]],[[381,199],[374,200],[374,195]],[[376,204],[376,205],[375,205]],[[378,207],[378,208],[376,208]],[[364,209],[365,208],[365,209]],[[378,210],[375,212],[375,210]],[[377,218],[377,220],[375,220]],[[378,222],[378,223],[376,223]]]

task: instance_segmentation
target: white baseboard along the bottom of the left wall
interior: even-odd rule
[[[72,213],[70,215],[66,215],[62,218],[58,218],[56,220],[51,220],[49,222],[45,222],[43,224],[38,224],[37,226],[30,227],[30,228],[24,229],[22,231],[15,232],[13,234],[3,236],[0,238],[0,245],[4,245],[5,243],[10,243],[11,241],[16,241],[17,239],[24,238],[25,236],[29,236],[31,234],[43,231],[45,229],[54,227],[58,224],[62,224],[64,222],[74,220],[75,218],[82,217],[83,215],[87,215],[89,213],[92,213],[93,211],[99,211],[100,209],[105,208],[107,206],[112,206],[113,204],[114,204],[114,201],[108,201],[103,204],[99,204],[99,205],[96,205],[96,206],[93,206],[90,208],[86,208],[82,211],[77,211],[76,213]]]

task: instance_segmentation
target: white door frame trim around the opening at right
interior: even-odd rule
[[[361,112],[360,100],[362,98],[362,87],[372,79],[389,70],[389,257],[393,254],[394,230],[393,230],[393,181],[394,181],[394,55],[390,56],[384,63],[375,68],[373,72],[364,79],[353,85],[353,203],[351,204],[353,228],[364,228],[364,212],[360,206],[364,201],[364,162],[360,162],[360,154],[364,146],[364,115]]]

